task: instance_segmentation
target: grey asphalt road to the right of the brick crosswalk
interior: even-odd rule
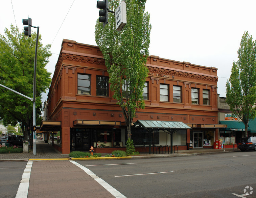
[[[256,152],[77,163],[128,198],[256,197]]]

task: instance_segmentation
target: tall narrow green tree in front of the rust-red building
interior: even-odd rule
[[[146,0],[126,0],[127,24],[117,32],[115,16],[108,14],[108,24],[95,26],[95,41],[103,54],[109,73],[113,98],[122,108],[127,126],[127,138],[131,138],[131,125],[138,108],[144,109],[143,88],[148,69],[145,66],[150,43],[151,25],[145,11]],[[110,0],[109,8],[118,6]]]

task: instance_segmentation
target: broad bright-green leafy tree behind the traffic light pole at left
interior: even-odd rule
[[[34,53],[36,47],[36,33],[28,38],[20,33],[18,27],[5,28],[5,36],[0,35],[0,84],[21,94],[33,98],[33,70]],[[36,76],[36,115],[40,124],[42,108],[42,93],[49,88],[51,77],[45,66],[51,45],[43,46],[39,35]],[[0,87],[0,120],[7,126],[21,124],[24,138],[27,140],[29,127],[32,126],[32,101]]]

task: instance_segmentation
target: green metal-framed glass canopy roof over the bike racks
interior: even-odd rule
[[[143,127],[144,129],[191,129],[191,127],[187,126],[183,122],[137,120],[136,122],[133,122],[133,124],[135,125],[135,128]]]

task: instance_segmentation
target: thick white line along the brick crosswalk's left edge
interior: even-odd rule
[[[29,179],[33,161],[28,161],[21,177],[20,185],[16,194],[17,198],[24,198],[28,195]]]

